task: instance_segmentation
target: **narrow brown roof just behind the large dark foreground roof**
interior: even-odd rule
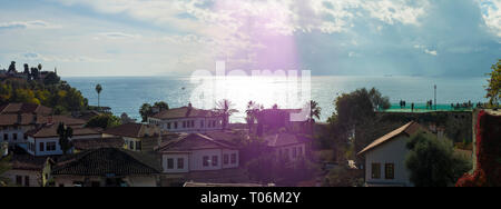
[[[96,139],[76,139],[71,141],[75,149],[90,150],[100,148],[122,148],[124,139],[120,137],[114,138],[96,138]]]

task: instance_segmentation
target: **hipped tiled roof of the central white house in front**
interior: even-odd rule
[[[202,133],[189,133],[181,136],[179,139],[170,140],[163,143],[157,150],[160,152],[183,152],[200,149],[236,149],[235,147],[214,140]]]

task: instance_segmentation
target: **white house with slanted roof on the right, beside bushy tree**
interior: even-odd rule
[[[405,168],[406,143],[411,136],[428,132],[416,122],[405,126],[376,139],[358,156],[365,157],[365,183],[369,187],[412,187]]]

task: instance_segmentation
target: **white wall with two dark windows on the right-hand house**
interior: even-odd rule
[[[404,163],[405,156],[409,152],[406,139],[409,138],[405,136],[399,136],[364,153],[365,182],[369,186],[413,186]],[[375,167],[379,167],[379,169]],[[392,167],[393,169],[391,169]],[[393,172],[393,175],[387,172]]]

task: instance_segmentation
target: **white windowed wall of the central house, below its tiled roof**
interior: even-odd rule
[[[179,165],[183,163],[183,166]],[[163,153],[161,167],[165,173],[222,170],[239,167],[238,150],[204,149],[189,152]]]

